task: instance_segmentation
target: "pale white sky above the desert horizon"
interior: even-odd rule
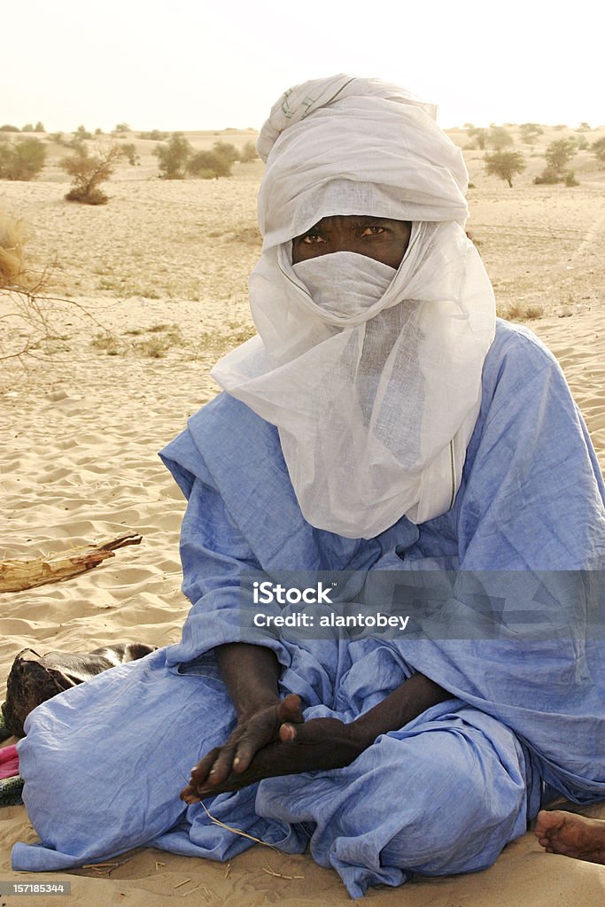
[[[0,125],[259,129],[291,85],[376,76],[473,122],[605,124],[596,0],[27,0],[2,11]]]

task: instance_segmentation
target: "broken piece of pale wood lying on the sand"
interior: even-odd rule
[[[69,580],[114,557],[116,548],[140,542],[141,535],[132,532],[101,544],[80,545],[30,561],[0,561],[0,592],[21,592],[34,586],[44,586],[47,582]]]

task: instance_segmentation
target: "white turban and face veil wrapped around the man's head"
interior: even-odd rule
[[[479,412],[493,290],[464,233],[462,152],[434,115],[342,75],[285,93],[259,136],[259,335],[212,375],[277,425],[307,521],[348,538],[449,510]],[[291,239],[346,214],[413,222],[396,271],[351,252],[292,266]]]

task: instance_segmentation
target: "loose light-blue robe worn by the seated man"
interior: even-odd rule
[[[28,718],[24,801],[42,843],[16,844],[15,869],[64,869],[141,844],[217,860],[250,846],[178,799],[190,767],[234,725],[211,651],[233,641],[276,652],[281,691],[303,698],[306,717],[351,721],[415,671],[452,693],[346,768],[207,802],[284,851],[310,846],[353,897],[413,872],[483,869],[523,834],[545,791],[605,798],[599,466],[561,369],[529,331],[498,323],[482,386],[454,507],[371,540],[305,521],[276,428],[247,406],[223,394],[190,419],[161,453],[188,498],[181,560],[192,608],[181,642]],[[244,626],[242,575],[286,570],[471,580],[454,580],[417,637]],[[479,599],[492,603],[499,633],[449,632],[457,620],[483,626]]]

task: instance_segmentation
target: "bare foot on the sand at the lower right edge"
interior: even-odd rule
[[[541,810],[535,827],[538,842],[548,853],[605,864],[605,821],[560,809]]]

